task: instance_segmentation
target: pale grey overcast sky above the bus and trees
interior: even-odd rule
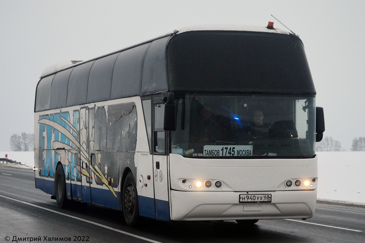
[[[326,132],[350,151],[365,137],[365,1],[17,1],[0,0],[0,151],[13,133],[34,133],[42,71],[88,60],[196,24],[286,30],[304,43]]]

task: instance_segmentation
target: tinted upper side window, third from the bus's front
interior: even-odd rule
[[[87,103],[105,101],[110,98],[112,84],[113,66],[116,57],[115,53],[110,56],[95,60],[91,66],[88,83]]]

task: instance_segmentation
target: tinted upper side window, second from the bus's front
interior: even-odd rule
[[[150,43],[120,53],[113,70],[111,99],[138,95],[141,87],[143,56]]]

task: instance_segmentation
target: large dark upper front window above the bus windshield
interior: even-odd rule
[[[170,39],[167,58],[171,91],[315,94],[295,35],[186,32]]]

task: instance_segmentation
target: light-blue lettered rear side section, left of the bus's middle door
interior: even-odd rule
[[[60,162],[63,166],[66,180],[66,195],[72,199],[71,181],[74,181],[74,154],[79,152],[78,128],[72,124],[73,114],[69,111],[58,111],[51,114],[35,114],[35,166],[36,187],[54,195],[54,172]],[[78,116],[75,117],[78,120]],[[78,166],[80,170],[80,166]],[[75,187],[77,191],[77,187]]]

